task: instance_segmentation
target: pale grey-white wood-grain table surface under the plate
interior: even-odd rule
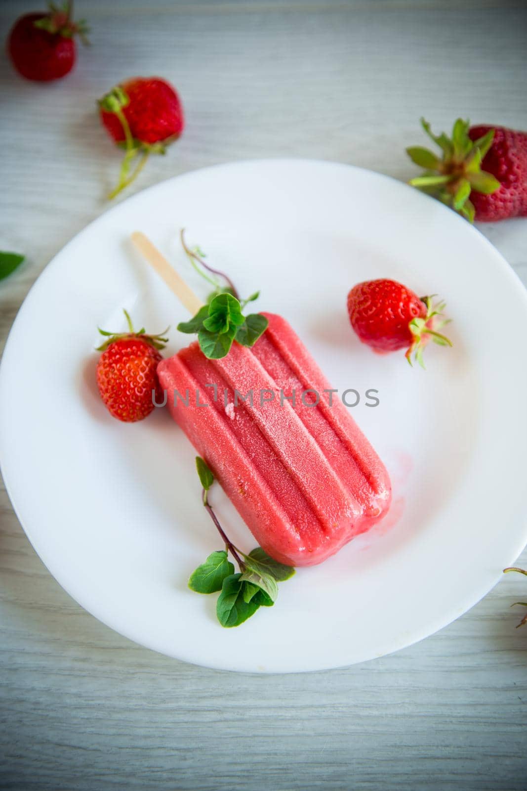
[[[32,5],[2,2],[2,40]],[[420,115],[437,129],[457,115],[527,129],[522,2],[77,6],[92,47],[66,80],[27,83],[0,55],[0,248],[28,255],[0,284],[2,346],[43,267],[106,208],[118,154],[95,100],[123,78],[160,74],[186,108],[181,142],[152,157],[136,189],[280,155],[407,179]],[[481,229],[527,282],[527,220]],[[527,788],[527,627],[514,629],[521,610],[509,607],[527,598],[525,577],[504,577],[456,623],[393,656],[236,675],[161,657],[98,623],[47,573],[3,490],[0,523],[0,788]]]

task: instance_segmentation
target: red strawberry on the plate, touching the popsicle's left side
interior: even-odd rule
[[[124,311],[128,332],[113,334],[99,330],[107,340],[97,362],[97,385],[110,414],[123,422],[142,420],[160,403],[162,392],[157,379],[157,363],[163,358],[159,350],[167,339],[162,335],[145,335],[145,329],[134,332],[130,316]]]

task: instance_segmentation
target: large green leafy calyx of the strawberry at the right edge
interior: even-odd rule
[[[473,222],[476,210],[469,199],[472,190],[491,195],[501,186],[495,176],[481,169],[481,161],[492,145],[495,130],[490,129],[483,137],[471,140],[470,122],[461,118],[454,123],[450,138],[444,132],[433,134],[430,124],[423,118],[421,126],[442,153],[438,156],[420,146],[407,148],[406,153],[412,162],[426,168],[422,176],[410,179],[408,184],[433,195]]]

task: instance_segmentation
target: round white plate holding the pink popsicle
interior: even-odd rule
[[[343,391],[393,479],[385,524],[280,585],[237,629],[216,596],[186,588],[220,548],[200,505],[194,451],[168,413],[125,425],[96,392],[96,326],[150,331],[185,312],[130,244],[145,231],[197,290],[187,229],[259,309],[283,313]],[[439,293],[454,348],[427,371],[378,357],[348,324],[356,282],[388,276]],[[199,278],[198,278],[199,279]],[[527,297],[491,244],[454,212],[377,173],[318,161],[250,161],[168,180],[109,210],[49,264],[13,325],[0,373],[2,473],[17,515],[60,584],[113,629],[214,668],[292,672],[380,657],[475,604],[527,540]],[[221,490],[213,504],[246,551],[254,539]]]

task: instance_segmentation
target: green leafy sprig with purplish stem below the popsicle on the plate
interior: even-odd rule
[[[220,591],[216,603],[218,621],[227,628],[239,626],[259,607],[273,607],[278,596],[277,583],[288,580],[295,570],[271,558],[262,547],[256,547],[249,554],[235,547],[209,504],[208,492],[214,483],[214,475],[201,456],[196,456],[196,469],[203,487],[203,505],[224,540],[225,548],[209,554],[205,562],[194,570],[190,575],[189,588],[197,593]],[[234,564],[228,560],[229,552],[238,564],[239,573],[235,573]]]

